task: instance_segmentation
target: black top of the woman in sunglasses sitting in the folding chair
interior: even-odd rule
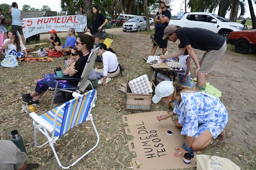
[[[75,63],[75,69],[78,71],[74,76],[72,76],[71,78],[81,78],[81,75],[83,73],[83,69],[87,63],[87,60],[89,58],[89,54],[87,54],[86,56],[82,56],[80,57],[76,63]],[[72,86],[77,86],[79,83],[79,80],[68,80],[68,83]]]

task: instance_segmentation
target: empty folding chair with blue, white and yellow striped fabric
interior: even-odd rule
[[[60,167],[63,169],[69,169],[73,165],[75,165],[80,159],[89,154],[95,147],[97,147],[99,143],[99,134],[93,122],[93,116],[91,114],[91,109],[93,108],[95,98],[97,95],[96,90],[90,90],[82,95],[77,94],[78,97],[69,100],[68,102],[62,104],[50,110],[41,116],[35,114],[35,112],[30,113],[31,118],[33,118],[34,124],[34,143],[35,147],[39,148],[47,143],[49,143],[50,147],[53,150],[53,153],[59,163]],[[78,158],[71,165],[64,167],[61,165],[59,157],[54,149],[54,143],[64,135],[68,130],[73,127],[83,123],[84,121],[91,120],[93,124],[94,131],[97,135],[97,143],[93,146],[89,151],[83,154],[80,158]],[[48,141],[44,144],[37,146],[37,129],[44,134]],[[52,135],[50,134],[52,133]],[[50,134],[50,135],[49,135]]]

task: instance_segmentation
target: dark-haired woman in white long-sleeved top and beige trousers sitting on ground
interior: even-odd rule
[[[120,73],[120,64],[117,62],[117,57],[115,51],[112,48],[107,48],[103,43],[99,43],[99,55],[102,55],[103,66],[97,66],[94,70],[95,72],[100,72],[103,74],[102,85],[106,86],[106,79],[114,78]]]

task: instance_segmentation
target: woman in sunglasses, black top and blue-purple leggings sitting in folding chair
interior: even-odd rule
[[[83,37],[83,39],[80,39],[80,37]],[[72,78],[81,78],[81,75],[83,73],[84,67],[86,66],[87,59],[89,58],[91,49],[93,49],[94,45],[94,39],[90,35],[86,34],[79,34],[77,39],[77,47],[71,50],[73,53],[74,59],[77,59],[74,64],[72,63],[71,66],[69,66],[66,70],[63,71],[63,73],[68,74],[68,77]],[[82,50],[80,50],[82,49]],[[79,53],[78,51],[81,51]],[[37,80],[37,86],[35,87],[35,90],[32,94],[23,94],[22,95],[22,101],[24,103],[28,103],[29,101],[32,101],[33,106],[38,105],[38,100],[41,98],[41,96],[48,90],[49,87],[55,87],[56,86],[56,80],[54,80],[55,75],[46,75],[43,79]],[[60,80],[58,84],[58,88],[75,88],[79,83],[79,80]]]

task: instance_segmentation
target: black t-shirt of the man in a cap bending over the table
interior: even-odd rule
[[[177,36],[181,48],[191,45],[192,48],[202,51],[219,50],[225,42],[222,35],[203,28],[183,27],[178,30]]]

